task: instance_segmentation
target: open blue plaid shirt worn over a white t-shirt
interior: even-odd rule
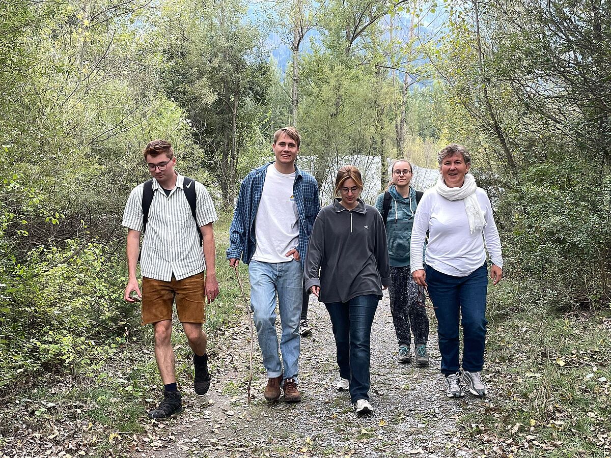
[[[233,222],[229,228],[229,248],[227,259],[240,259],[244,264],[251,262],[255,254],[255,217],[261,202],[263,184],[267,173],[268,162],[258,169],[251,170],[240,186],[238,204],[233,213]],[[297,250],[301,267],[304,267],[305,252],[312,233],[312,225],[320,211],[318,200],[318,183],[310,173],[299,170],[295,165],[295,183],[293,195],[299,214],[299,244]]]

